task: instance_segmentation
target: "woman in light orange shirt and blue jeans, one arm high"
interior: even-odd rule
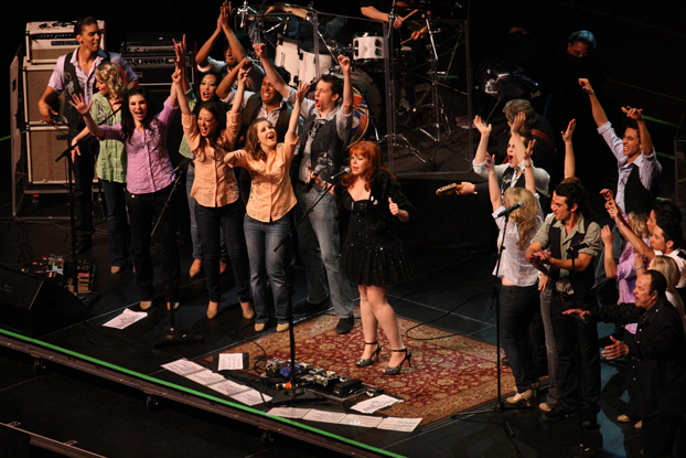
[[[289,231],[288,212],[296,205],[296,195],[288,174],[296,153],[297,127],[300,105],[309,85],[301,84],[293,107],[286,142],[277,145],[277,132],[266,119],[257,119],[246,134],[243,150],[225,157],[232,167],[243,167],[250,173],[250,198],[244,221],[245,238],[250,260],[250,286],[255,301],[255,330],[261,331],[269,321],[267,308],[267,277],[271,285],[277,331],[288,330],[289,291],[286,281],[286,245],[279,244]],[[234,105],[236,103],[234,102]],[[267,276],[265,276],[265,273]]]

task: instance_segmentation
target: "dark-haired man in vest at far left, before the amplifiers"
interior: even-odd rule
[[[62,90],[66,90],[64,106],[64,120],[69,128],[67,145],[84,128],[83,117],[72,107],[68,100],[74,94],[82,94],[86,104],[90,103],[95,89],[95,67],[101,62],[109,61],[119,65],[126,73],[129,87],[138,85],[138,77],[126,61],[116,53],[100,50],[101,31],[93,18],[82,18],[74,25],[74,35],[78,41],[78,47],[73,53],[60,56],[55,70],[47,83],[43,96],[39,100],[41,117],[47,124],[55,124],[57,111],[51,106]],[[128,109],[125,107],[125,109]],[[81,143],[82,155],[74,156],[74,203],[76,220],[76,253],[82,254],[90,249],[90,236],[95,232],[93,226],[93,199],[90,188],[93,185],[95,156],[97,155],[97,141],[93,138]],[[94,150],[95,149],[95,150]]]

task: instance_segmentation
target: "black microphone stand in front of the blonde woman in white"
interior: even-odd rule
[[[497,251],[497,263],[495,264],[495,277],[497,278],[501,271],[501,263],[503,259],[503,251],[505,249],[505,234],[507,233],[507,223],[510,222],[510,213],[516,209],[512,209],[511,211],[504,211],[503,213],[501,213],[501,215],[505,216],[505,226],[503,227],[503,234],[501,236],[501,243],[500,243],[500,247]],[[503,404],[503,400],[502,400],[502,362],[501,362],[501,302],[500,302],[500,291],[501,291],[501,283],[496,281],[493,284],[493,295],[491,296],[491,309],[493,309],[495,307],[495,355],[496,355],[496,380],[497,380],[497,398],[495,400],[495,404],[493,404],[493,407],[489,407],[489,408],[483,408],[480,411],[468,411],[468,412],[458,412],[455,414],[452,414],[450,416],[450,418],[459,418],[461,416],[467,416],[467,415],[475,415],[475,414],[490,414],[492,412],[497,412],[497,413],[503,413],[505,411],[518,411],[522,408],[530,408],[530,406],[512,406],[512,407],[507,407],[505,408],[505,404]],[[503,428],[505,429],[505,433],[507,434],[508,437],[514,437],[514,432],[512,430],[512,427],[510,426],[510,423],[507,422],[507,419],[505,419],[504,417],[501,418],[504,423]],[[515,447],[515,449],[517,450],[517,456],[522,456],[519,450]]]

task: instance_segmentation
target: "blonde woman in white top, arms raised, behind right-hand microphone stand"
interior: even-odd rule
[[[516,142],[515,147],[517,163],[524,164],[526,188],[508,188],[502,195],[493,157],[487,153],[485,167],[489,171],[493,217],[501,231],[499,243],[503,241],[504,245],[500,265],[494,271],[501,278],[501,337],[517,386],[517,393],[507,397],[506,402],[528,405],[538,384],[536,355],[528,329],[534,315],[540,308],[540,301],[538,270],[526,260],[525,252],[543,224],[543,210],[536,193],[530,149],[526,150],[521,141]],[[505,207],[517,203],[521,205],[518,209],[512,211],[510,215],[503,215]]]

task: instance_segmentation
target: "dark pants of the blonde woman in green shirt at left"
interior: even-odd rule
[[[107,205],[107,232],[109,235],[109,265],[121,267],[129,257],[131,228],[126,214],[126,183],[100,180],[105,205]]]

